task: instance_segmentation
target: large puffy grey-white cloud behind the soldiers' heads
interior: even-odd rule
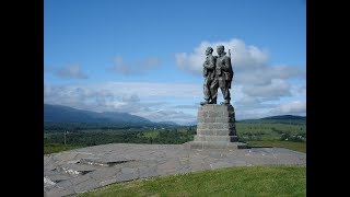
[[[234,71],[234,83],[243,85],[266,85],[272,79],[289,80],[292,78],[304,79],[306,72],[298,67],[291,66],[269,66],[269,53],[256,46],[246,46],[241,39],[230,39],[228,42],[201,42],[190,54],[175,54],[176,65],[185,71],[202,74],[202,63],[206,59],[205,50],[211,46],[224,45],[225,51],[231,49],[232,67]]]

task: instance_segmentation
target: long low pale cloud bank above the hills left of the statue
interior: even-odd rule
[[[153,121],[186,124],[196,120],[196,108],[192,108],[192,114],[188,114],[172,106],[178,102],[195,105],[202,97],[200,85],[143,82],[65,86],[45,84],[44,103],[95,112],[124,112]]]

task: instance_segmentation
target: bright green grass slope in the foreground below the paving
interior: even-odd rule
[[[113,184],[89,196],[306,196],[306,166],[240,166]]]

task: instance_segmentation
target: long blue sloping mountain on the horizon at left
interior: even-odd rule
[[[77,109],[62,105],[44,104],[44,121],[46,123],[142,123],[151,120],[127,113],[96,113]]]

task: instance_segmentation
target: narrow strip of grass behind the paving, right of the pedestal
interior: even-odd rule
[[[305,152],[306,153],[306,143],[305,142],[293,142],[293,141],[247,141],[248,146],[252,147],[282,147],[285,149]]]

